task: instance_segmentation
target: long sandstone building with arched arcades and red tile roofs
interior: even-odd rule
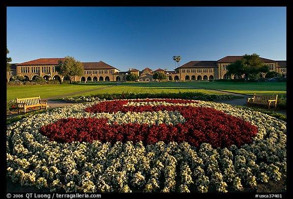
[[[195,81],[195,80],[211,80],[225,78],[241,78],[243,76],[227,75],[227,66],[232,62],[241,60],[242,56],[226,56],[217,61],[190,61],[182,66],[175,68],[173,71],[163,70],[161,68],[153,71],[146,67],[142,71],[137,69],[129,69],[128,71],[120,71],[119,69],[103,62],[81,62],[83,65],[83,75],[75,76],[72,81],[81,82],[124,82],[126,76],[130,73],[136,73],[139,81],[152,81],[154,72],[164,72],[168,81]],[[11,71],[7,72],[7,82],[13,81],[13,76],[23,75],[27,81],[33,80],[40,76],[46,80],[54,79],[60,82],[69,80],[69,77],[58,74],[55,66],[58,60],[63,61],[65,58],[40,58],[18,64],[11,64]],[[287,75],[286,61],[274,61],[266,58],[260,58],[261,62],[269,65],[270,71],[276,71]],[[266,73],[261,74],[266,77]]]

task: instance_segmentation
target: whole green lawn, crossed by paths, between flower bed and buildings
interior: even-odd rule
[[[42,99],[85,91],[73,96],[94,96],[95,94],[121,94],[121,93],[179,93],[179,92],[202,92],[204,94],[220,94],[217,91],[196,89],[193,87],[207,88],[241,93],[247,95],[257,94],[279,94],[286,97],[286,83],[231,83],[231,82],[130,82],[113,86],[116,83],[89,83],[89,84],[61,84],[61,85],[33,85],[33,86],[7,86],[7,101],[25,97],[41,96]],[[86,92],[92,89],[103,88],[96,91]]]

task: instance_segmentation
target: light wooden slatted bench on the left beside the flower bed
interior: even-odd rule
[[[41,97],[29,97],[29,98],[16,98],[17,104],[17,113],[19,110],[23,108],[23,111],[26,112],[26,109],[33,108],[33,107],[40,107],[46,108],[47,107],[47,100],[41,100]]]

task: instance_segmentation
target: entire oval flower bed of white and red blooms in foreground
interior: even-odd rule
[[[241,191],[286,177],[286,122],[193,100],[75,104],[7,127],[7,176],[50,191]]]

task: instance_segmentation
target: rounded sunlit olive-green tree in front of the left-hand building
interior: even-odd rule
[[[74,76],[83,75],[83,66],[80,61],[76,61],[74,57],[65,57],[64,61],[58,60],[56,71],[63,76],[69,76],[70,84]]]

